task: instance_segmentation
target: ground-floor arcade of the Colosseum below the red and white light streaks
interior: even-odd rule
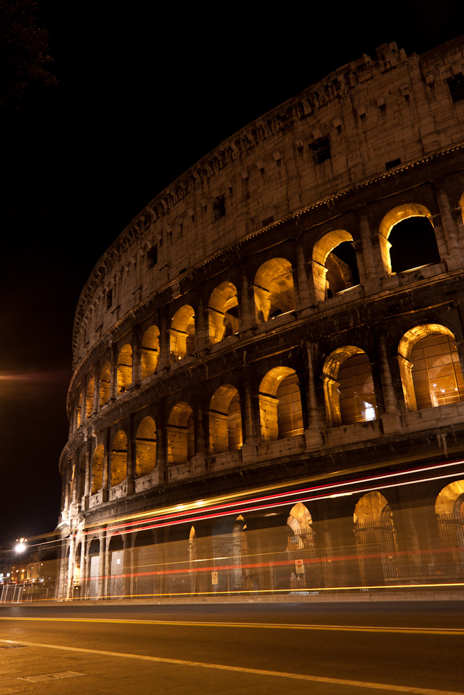
[[[413,509],[401,493],[388,496],[394,503],[381,490],[347,498],[346,516],[314,500],[265,517],[235,512],[212,526],[173,527],[168,539],[136,523],[124,534],[90,534],[66,553],[65,591],[81,598],[257,594],[464,577],[464,480]],[[424,523],[435,528],[428,537],[419,532]]]

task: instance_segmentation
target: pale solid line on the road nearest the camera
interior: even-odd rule
[[[61,649],[81,654],[95,654],[98,656],[110,656],[118,659],[138,659],[162,664],[175,664],[176,666],[200,667],[202,669],[218,669],[220,671],[237,671],[239,673],[253,673],[256,676],[277,676],[278,678],[294,678],[295,680],[309,680],[312,682],[332,683],[333,685],[351,685],[351,687],[373,688],[389,690],[390,692],[415,693],[417,695],[464,695],[464,693],[451,692],[449,690],[432,690],[424,688],[407,687],[404,685],[385,685],[384,683],[369,683],[362,680],[341,680],[339,678],[321,678],[320,676],[304,676],[301,673],[283,673],[282,671],[263,671],[262,669],[245,669],[239,666],[226,666],[225,664],[205,664],[198,661],[185,661],[182,659],[168,659],[159,656],[146,656],[143,654],[128,654],[125,652],[111,652],[102,649],[86,649],[83,647],[68,647],[58,644],[43,644],[42,642],[17,641],[15,639],[0,639],[7,644],[25,644],[28,647],[42,647],[45,649]]]

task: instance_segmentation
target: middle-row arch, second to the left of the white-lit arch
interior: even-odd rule
[[[219,454],[239,449],[242,444],[239,392],[224,384],[209,404],[209,448],[211,453]]]

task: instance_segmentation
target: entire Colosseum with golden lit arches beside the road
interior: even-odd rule
[[[464,582],[464,37],[218,145],[74,322],[58,598]]]

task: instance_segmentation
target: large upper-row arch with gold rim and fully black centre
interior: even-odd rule
[[[390,210],[378,229],[383,265],[387,273],[440,263],[432,215],[418,203]]]

